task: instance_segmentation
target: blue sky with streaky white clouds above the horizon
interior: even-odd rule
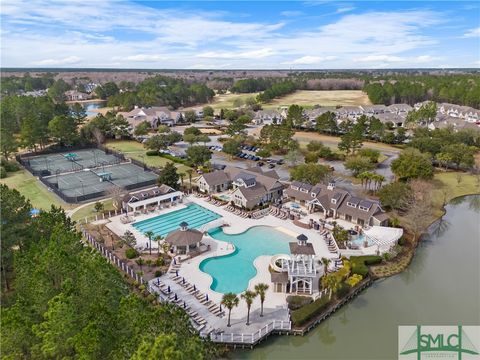
[[[1,66],[480,67],[480,2],[0,0]]]

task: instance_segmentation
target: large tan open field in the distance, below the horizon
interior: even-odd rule
[[[297,90],[292,94],[273,99],[263,108],[278,108],[292,104],[304,107],[321,106],[356,106],[371,105],[366,93],[361,90]]]

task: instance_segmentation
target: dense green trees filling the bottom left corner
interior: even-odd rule
[[[2,357],[209,359],[214,346],[173,305],[133,293],[52,207],[37,218],[18,191],[2,197]],[[168,354],[168,356],[167,356]]]

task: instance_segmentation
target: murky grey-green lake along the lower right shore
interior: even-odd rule
[[[399,325],[480,324],[480,196],[454,199],[409,268],[377,281],[308,335],[272,336],[235,359],[397,359]]]

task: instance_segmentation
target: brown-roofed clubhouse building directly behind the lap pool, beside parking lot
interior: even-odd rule
[[[197,180],[199,191],[209,194],[231,191],[230,198],[241,208],[277,201],[282,198],[283,184],[274,170],[263,171],[260,167],[240,169],[227,166],[223,170],[203,174]]]

